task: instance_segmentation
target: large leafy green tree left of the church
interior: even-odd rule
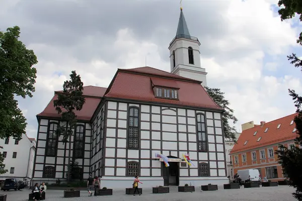
[[[0,138],[13,137],[21,140],[25,134],[26,119],[18,108],[16,96],[32,97],[35,91],[37,70],[33,66],[38,63],[33,50],[19,41],[20,28],[8,28],[0,31]],[[0,166],[3,156],[0,157]],[[4,170],[5,171],[5,170]],[[4,173],[0,170],[0,174]]]

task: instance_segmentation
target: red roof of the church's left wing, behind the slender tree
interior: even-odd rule
[[[91,93],[93,94],[93,93]],[[61,115],[58,115],[54,106],[53,100],[57,99],[58,95],[55,94],[52,99],[50,100],[49,104],[43,110],[42,113],[38,114],[39,117],[53,117],[53,118],[60,118]],[[81,111],[74,111],[75,115],[78,116],[78,120],[90,121],[91,117],[93,116],[95,110],[97,109],[99,103],[101,102],[101,98],[92,98],[86,97],[86,102],[83,106]],[[64,110],[63,110],[64,111]]]

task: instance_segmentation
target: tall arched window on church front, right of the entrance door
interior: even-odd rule
[[[203,114],[197,114],[198,151],[207,151],[205,132],[205,118]]]

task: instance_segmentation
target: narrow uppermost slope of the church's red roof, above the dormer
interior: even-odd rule
[[[175,75],[170,72],[166,72],[163,70],[159,70],[153,67],[145,66],[145,67],[139,67],[139,68],[130,68],[130,69],[118,69],[119,71],[128,71],[128,72],[138,72],[138,73],[144,73],[144,74],[149,74],[149,75],[158,75],[158,76],[163,76],[163,77],[169,77],[169,78],[178,78],[178,79],[183,79],[183,80],[190,80],[190,81],[195,81],[195,82],[201,82],[195,79],[190,79],[186,77],[182,77],[179,75]]]

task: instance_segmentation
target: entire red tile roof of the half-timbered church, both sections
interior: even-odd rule
[[[179,100],[156,98],[152,82],[155,85],[179,88]],[[75,111],[75,114],[79,120],[91,120],[101,101],[101,97],[125,98],[222,110],[214,103],[200,83],[198,80],[181,77],[152,67],[118,69],[108,89],[98,86],[84,87],[83,93],[86,96],[86,103],[83,109]],[[55,91],[55,95],[44,111],[37,115],[38,117],[60,118],[60,115],[57,114],[53,107],[53,100],[57,98],[56,92],[61,91]]]

